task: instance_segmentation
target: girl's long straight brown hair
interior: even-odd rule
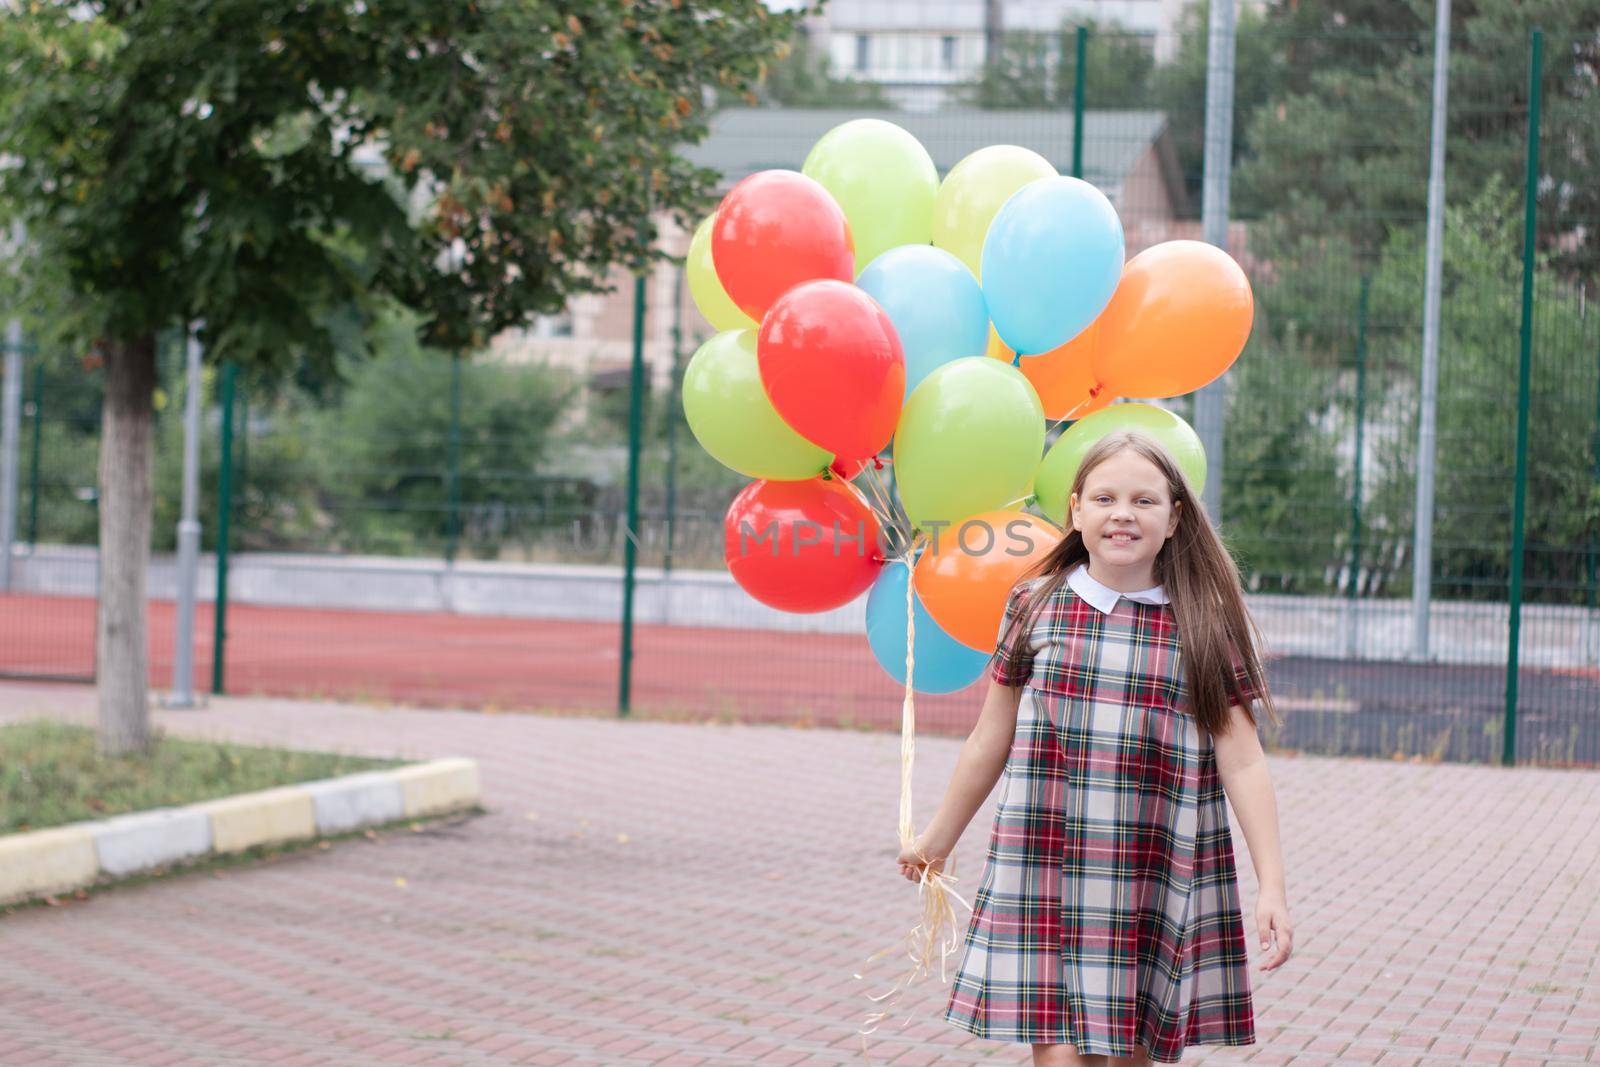
[[[1085,453],[1078,474],[1072,478],[1072,493],[1082,499],[1090,472],[1122,451],[1133,451],[1155,464],[1166,478],[1173,504],[1182,506],[1178,509],[1178,528],[1155,555],[1155,581],[1165,589],[1178,619],[1190,713],[1213,736],[1227,733],[1230,705],[1227,683],[1234,677],[1234,656],[1238,656],[1256,691],[1261,693],[1259,699],[1267,709],[1269,721],[1282,725],[1277,704],[1267,691],[1267,677],[1258,651],[1261,630],[1245,606],[1238,568],[1171,454],[1144,434],[1128,430],[1107,434]],[[1083,534],[1072,526],[1069,515],[1061,542],[1027,568],[1018,581],[1019,585],[1026,585],[1037,577],[1045,579],[1032,590],[1019,621],[1006,633],[1011,649],[1011,662],[1006,665],[1013,677],[1021,672],[1021,659],[1027,654],[1027,641],[1016,640],[1016,635],[1032,629],[1034,619],[1067,581],[1072,568],[1088,563],[1088,558]],[[1245,707],[1245,713],[1254,726],[1254,709]]]

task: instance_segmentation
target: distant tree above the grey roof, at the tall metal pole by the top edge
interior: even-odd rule
[[[963,86],[978,107],[1072,107],[1077,90],[1080,22],[1062,22],[1054,34],[1006,34],[1000,51]],[[1146,107],[1155,59],[1149,43],[1115,22],[1082,22],[1085,107]]]

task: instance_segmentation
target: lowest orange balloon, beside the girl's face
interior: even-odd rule
[[[992,653],[1011,587],[1061,536],[1056,526],[1027,512],[979,512],[939,531],[938,544],[917,558],[912,584],[946,633]]]

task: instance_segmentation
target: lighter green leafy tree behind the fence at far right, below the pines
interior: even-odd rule
[[[1510,576],[1517,378],[1522,318],[1522,192],[1499,179],[1445,218],[1443,310],[1434,514],[1434,571],[1442,595],[1504,600]],[[1410,368],[1421,347],[1416,277],[1421,226],[1397,230],[1373,278],[1378,368]],[[1534,338],[1528,435],[1526,597],[1582,603],[1594,577],[1587,553],[1600,522],[1595,462],[1595,354],[1600,325],[1578,286],[1541,256],[1534,269]],[[1378,451],[1371,518],[1410,547],[1416,502],[1414,395]],[[1400,568],[1410,590],[1410,565]]]

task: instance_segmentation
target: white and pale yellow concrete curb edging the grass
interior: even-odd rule
[[[306,841],[478,803],[478,765],[450,758],[296,782],[182,808],[0,837],[0,904],[154,867]]]

